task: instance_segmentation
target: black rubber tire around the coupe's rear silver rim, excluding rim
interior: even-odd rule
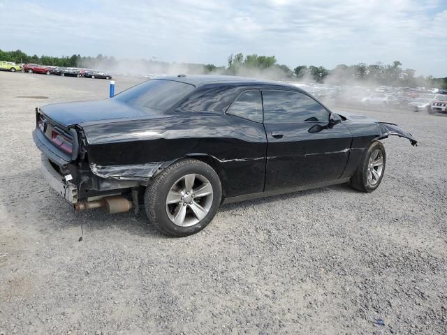
[[[169,218],[166,199],[171,187],[187,174],[199,174],[205,177],[207,181],[210,181],[212,186],[212,202],[210,201],[210,209],[201,221],[189,227],[182,227],[173,223]],[[149,223],[154,225],[160,232],[171,237],[185,237],[196,234],[196,232],[203,230],[216,215],[219,204],[221,203],[221,196],[221,181],[210,165],[202,161],[197,161],[196,159],[184,159],[170,165],[163,172],[160,172],[152,184],[146,188],[145,209],[147,218],[149,218]],[[190,214],[191,211],[189,211]]]

